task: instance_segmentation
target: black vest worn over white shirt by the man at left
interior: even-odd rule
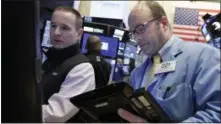
[[[64,49],[50,48],[46,52],[47,60],[43,63],[43,104],[48,104],[48,99],[59,92],[60,86],[68,72],[76,65],[88,62],[80,53],[79,44]]]

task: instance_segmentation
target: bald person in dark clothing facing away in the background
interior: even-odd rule
[[[102,44],[98,36],[88,37],[86,45],[88,53],[86,56],[94,67],[96,88],[106,86],[111,74],[111,65],[107,63],[102,56],[100,56],[101,45]]]

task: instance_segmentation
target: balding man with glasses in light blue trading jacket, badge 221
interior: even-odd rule
[[[131,86],[145,87],[173,121],[220,122],[218,49],[174,36],[157,2],[140,1],[128,24],[132,38],[148,55],[132,72]],[[161,64],[155,64],[156,58]],[[148,121],[121,108],[118,114],[130,122]]]

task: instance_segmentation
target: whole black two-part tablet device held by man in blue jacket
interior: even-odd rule
[[[165,112],[144,89],[134,91],[125,83],[118,82],[70,99],[93,122],[126,122],[118,114],[118,108],[147,119],[149,122],[170,122]],[[87,120],[85,122],[88,122]]]

